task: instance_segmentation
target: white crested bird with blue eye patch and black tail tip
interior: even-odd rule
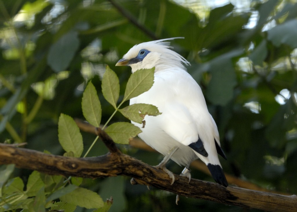
[[[139,69],[155,67],[154,84],[149,91],[130,99],[130,105],[146,103],[158,107],[159,116],[145,116],[145,127],[139,137],[165,155],[157,166],[166,171],[174,183],[174,175],[165,167],[169,159],[185,166],[182,176],[191,179],[189,166],[200,158],[208,167],[214,180],[227,187],[219,153],[219,132],[209,114],[200,86],[187,72],[189,62],[174,52],[170,42],[175,38],[144,42],[133,46],[116,66],[130,66],[132,74]]]

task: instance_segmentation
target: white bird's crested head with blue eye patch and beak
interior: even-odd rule
[[[155,72],[178,67],[186,69],[184,64],[189,65],[189,62],[171,50],[170,42],[163,42],[173,40],[175,38],[161,39],[156,41],[144,42],[133,46],[124,56],[120,59],[116,66],[130,66],[132,73],[138,69],[150,69],[155,67]]]

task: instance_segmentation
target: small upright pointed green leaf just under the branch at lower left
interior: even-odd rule
[[[44,187],[42,179],[40,178],[40,173],[37,171],[33,171],[29,176],[27,183],[26,194],[28,197],[36,196],[37,192]]]

